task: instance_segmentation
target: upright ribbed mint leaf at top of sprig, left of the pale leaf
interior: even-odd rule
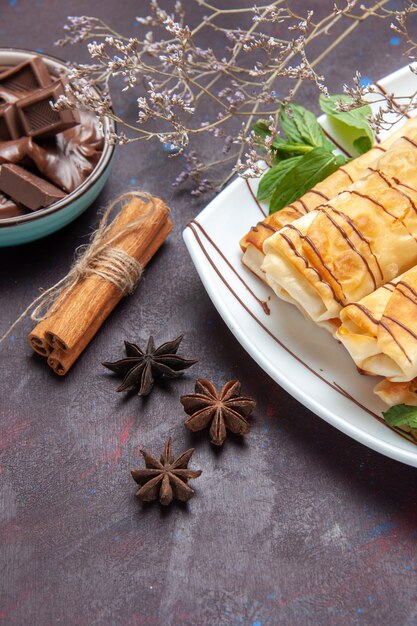
[[[279,122],[289,143],[306,143],[313,148],[334,150],[334,145],[327,139],[314,113],[305,107],[294,103],[282,106]]]

